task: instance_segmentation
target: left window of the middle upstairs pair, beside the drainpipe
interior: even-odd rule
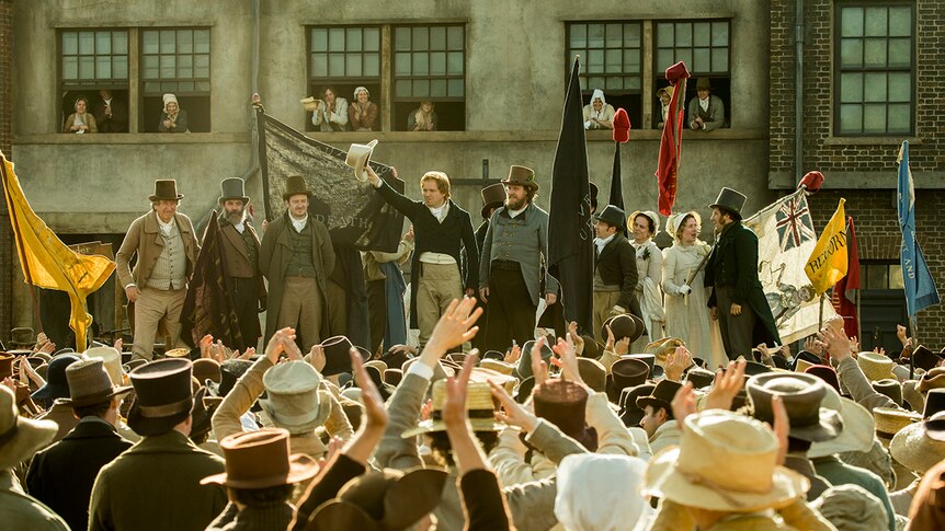
[[[354,89],[364,86],[371,101],[383,105],[380,91],[380,26],[311,27],[309,31],[309,85],[317,100],[327,88],[338,97],[354,101]],[[306,116],[309,130],[311,113]],[[380,129],[380,120],[375,129]]]

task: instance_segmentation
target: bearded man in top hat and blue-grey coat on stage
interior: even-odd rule
[[[548,261],[548,212],[534,204],[535,172],[513,165],[502,184],[505,204],[492,213],[482,243],[479,296],[490,304],[486,346],[504,351],[513,340],[523,345],[535,337],[538,299],[544,295],[554,304],[558,280],[542,267]]]

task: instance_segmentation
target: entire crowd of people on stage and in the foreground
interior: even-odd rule
[[[130,348],[20,330],[0,355],[4,528],[943,529],[945,355],[904,328],[901,353],[861,351],[842,320],[779,346],[744,195],[710,205],[714,246],[690,211],[664,250],[654,212],[594,205],[582,330],[544,319],[567,293],[534,171],[482,191],[478,230],[442,172],[412,200],[355,171],[412,223],[364,254],[369,346],[330,333],[340,257],[294,175],[259,229],[220,184],[240,339],[182,347],[202,244],[155,183],[116,254]]]

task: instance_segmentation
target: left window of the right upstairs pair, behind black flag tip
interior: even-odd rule
[[[642,123],[642,24],[639,22],[568,24],[567,74],[574,56],[581,57],[581,86],[584,103],[594,89],[614,108],[624,107],[630,125]]]

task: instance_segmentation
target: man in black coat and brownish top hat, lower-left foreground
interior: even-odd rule
[[[55,510],[72,529],[89,526],[89,498],[102,466],[132,442],[116,429],[122,397],[130,390],[112,384],[99,358],[78,360],[66,369],[65,401],[79,424],[62,440],[37,453],[30,463],[26,488]]]

